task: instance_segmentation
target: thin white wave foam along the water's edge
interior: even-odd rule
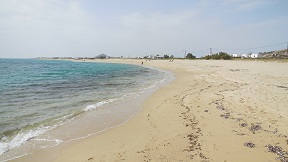
[[[158,70],[158,69],[155,69],[155,68],[151,68],[151,69],[154,69],[154,70]],[[169,72],[169,71],[165,71],[165,70],[159,70],[159,71],[162,71],[164,73],[170,73],[170,75],[165,75],[165,77],[161,80],[157,80],[155,81],[154,83],[152,83],[151,85],[148,85],[147,87],[143,87],[141,89],[138,89],[137,92],[132,92],[132,93],[128,93],[128,94],[124,94],[122,97],[120,98],[113,98],[113,99],[107,99],[107,100],[103,100],[103,101],[100,101],[100,102],[97,102],[95,104],[91,104],[91,105],[87,105],[84,109],[82,109],[82,111],[84,112],[88,112],[88,111],[93,111],[93,110],[96,110],[97,108],[100,108],[106,104],[112,104],[113,103],[121,103],[121,102],[124,102],[124,101],[128,101],[128,100],[131,100],[133,98],[137,98],[139,97],[141,94],[149,91],[149,90],[152,90],[154,91],[155,89],[154,88],[157,88],[159,85],[165,83],[165,82],[169,82],[172,80],[173,78],[173,75],[171,75],[172,73]],[[154,89],[154,90],[153,90]],[[138,114],[139,112],[137,112],[136,114]],[[94,132],[94,133],[89,133],[87,135],[84,135],[84,136],[80,136],[78,138],[73,138],[73,139],[70,139],[70,140],[58,140],[58,139],[36,139],[35,137],[37,136],[40,136],[42,134],[44,134],[45,132],[47,132],[48,130],[51,130],[57,126],[60,126],[60,125],[64,125],[65,123],[67,122],[70,122],[72,120],[74,120],[74,117],[73,118],[70,118],[70,115],[67,115],[67,116],[64,116],[62,118],[59,119],[59,122],[57,124],[55,124],[54,126],[50,126],[50,127],[39,127],[39,128],[36,128],[35,130],[30,130],[28,132],[20,132],[18,135],[16,135],[15,137],[13,137],[13,139],[11,140],[8,140],[8,139],[2,139],[2,141],[0,142],[0,155],[4,154],[5,152],[13,149],[13,148],[17,148],[23,144],[25,144],[27,141],[33,139],[33,140],[36,140],[36,141],[47,141],[47,142],[53,142],[53,143],[56,143],[56,145],[59,145],[60,143],[62,142],[71,142],[71,141],[75,141],[75,140],[79,140],[79,139],[83,139],[83,138],[87,138],[91,135],[94,135],[94,134],[97,134],[97,133],[100,133],[100,132],[103,132],[103,131],[106,131],[108,129],[111,129],[111,128],[114,128],[114,127],[117,127],[117,126],[120,126],[124,123],[126,123],[128,120],[130,120],[134,115],[136,114],[133,114],[131,116],[129,116],[124,122],[122,123],[118,123],[114,126],[111,126],[111,127],[107,127],[103,130],[100,130],[100,131],[97,131],[97,132]],[[69,119],[69,120],[67,120]],[[63,122],[64,121],[64,122]],[[56,137],[58,138],[58,137]],[[53,145],[53,146],[56,146],[56,145]],[[45,148],[45,147],[43,147]],[[21,156],[18,156],[18,157],[15,157],[15,158],[19,158],[19,157],[22,157],[22,156],[25,156],[27,155],[27,153],[24,153],[23,155]],[[15,159],[14,158],[14,159]],[[10,159],[11,160],[11,159]],[[1,161],[1,160],[0,160]]]

